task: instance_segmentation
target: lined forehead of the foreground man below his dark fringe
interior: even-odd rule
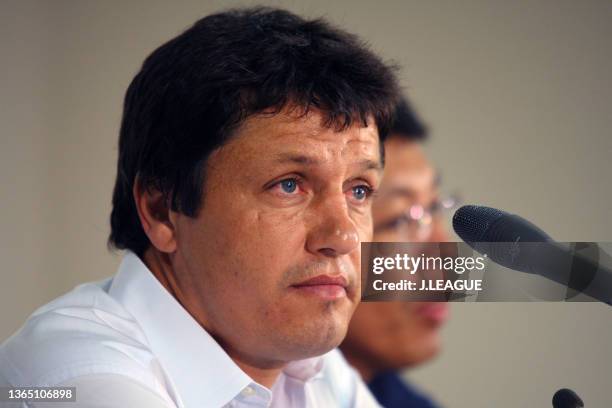
[[[353,123],[337,131],[333,125],[326,126],[323,115],[316,110],[306,115],[284,110],[248,118],[228,145],[243,154],[279,157],[291,150],[316,155],[322,161],[370,159],[378,162],[379,143],[373,121],[367,126]]]

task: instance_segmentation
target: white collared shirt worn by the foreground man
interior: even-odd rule
[[[289,363],[272,389],[256,383],[131,252],[114,277],[41,307],[0,346],[2,386],[75,386],[72,408],[378,406],[337,350]]]

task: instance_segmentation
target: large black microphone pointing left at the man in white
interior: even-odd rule
[[[611,270],[554,242],[518,215],[466,205],[455,212],[453,229],[473,249],[501,266],[544,276],[612,305]]]

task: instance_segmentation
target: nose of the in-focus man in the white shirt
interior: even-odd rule
[[[306,249],[325,257],[348,254],[359,246],[359,233],[351,218],[344,194],[313,203]]]

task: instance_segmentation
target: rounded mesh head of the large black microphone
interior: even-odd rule
[[[509,215],[505,211],[479,205],[464,205],[455,211],[453,229],[465,242],[483,242],[491,225],[500,217]]]

